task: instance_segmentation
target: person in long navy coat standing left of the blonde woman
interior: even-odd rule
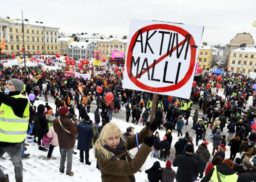
[[[93,128],[89,125],[90,117],[84,116],[83,123],[77,125],[78,142],[77,149],[80,150],[80,162],[84,162],[85,152],[85,164],[90,165],[89,162],[89,150],[91,146],[91,139],[93,138]]]

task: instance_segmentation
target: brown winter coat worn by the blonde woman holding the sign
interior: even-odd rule
[[[144,141],[146,136],[147,128],[144,127],[138,134],[139,145]],[[101,171],[102,182],[131,182],[129,176],[132,176],[135,181],[133,174],[139,171],[152,150],[148,145],[142,144],[134,159],[131,159],[128,151],[137,147],[136,135],[128,136],[125,141],[124,152],[112,159],[104,160],[98,156],[97,151],[95,152],[95,157],[98,159]]]

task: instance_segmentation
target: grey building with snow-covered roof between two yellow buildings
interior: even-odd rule
[[[76,60],[93,58],[97,47],[91,42],[70,42],[68,45],[68,56]]]

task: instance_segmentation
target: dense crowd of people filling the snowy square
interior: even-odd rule
[[[29,138],[37,143],[39,150],[48,152],[49,159],[54,148],[59,146],[59,171],[64,173],[67,161],[66,175],[69,176],[74,175],[72,155],[76,153],[74,146],[78,140],[81,163],[91,164],[89,150],[94,148],[102,181],[115,181],[117,176],[121,181],[135,181],[133,174],[140,170],[152,150],[156,159],[166,162],[166,167],[161,168],[157,160],[146,170],[151,182],[174,179],[178,182],[198,179],[241,182],[256,179],[256,94],[253,89],[256,81],[251,78],[227,74],[217,81],[216,75],[205,73],[197,84],[199,86],[192,87],[188,101],[158,95],[157,102],[153,103],[152,93],[124,89],[121,77],[108,72],[85,80],[83,77],[64,76],[63,72],[43,71],[40,67],[28,68],[29,76],[15,67],[0,68],[0,114],[4,118],[4,124],[0,126],[0,156],[6,152],[11,157],[17,182],[23,181],[22,159],[29,157],[28,153],[25,154],[24,142],[30,130],[28,123],[33,124]],[[224,95],[212,94],[207,83],[212,88],[220,84],[225,89]],[[98,92],[97,87],[101,87],[102,92]],[[112,102],[105,99],[109,92],[114,95]],[[31,93],[35,97],[30,100],[26,94]],[[37,105],[42,96],[45,105]],[[248,99],[250,96],[252,102]],[[48,104],[50,99],[54,99],[56,110]],[[91,110],[92,102],[97,104],[95,111]],[[150,124],[153,104],[156,111],[154,122]],[[197,104],[199,109],[193,109]],[[139,133],[139,144],[143,144],[135,158],[128,152],[137,146],[134,128],[128,127],[123,135],[111,122],[120,110],[125,110],[127,123],[138,125],[141,122],[145,126]],[[193,117],[190,116],[191,110],[194,111]],[[201,118],[199,111],[203,113]],[[88,113],[94,113],[94,121]],[[195,135],[183,129],[191,121],[190,117]],[[8,122],[11,120],[18,123],[19,128],[15,122]],[[154,135],[147,136],[149,129]],[[157,129],[166,134],[160,136]],[[212,141],[206,141],[206,130],[211,130]],[[224,130],[228,130],[228,136],[223,134]],[[172,144],[174,131],[179,140]],[[43,142],[45,135],[51,139],[48,146]],[[208,149],[210,143],[212,151]],[[230,156],[225,156],[226,149],[230,149]],[[167,158],[174,150],[175,158],[171,162]],[[237,153],[240,155],[236,158]],[[177,166],[177,171],[171,166]],[[0,169],[0,182],[8,179]]]

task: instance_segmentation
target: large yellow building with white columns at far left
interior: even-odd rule
[[[24,21],[24,50],[41,54],[55,54],[59,51],[59,28],[47,26],[43,22]],[[0,18],[0,40],[6,39],[6,51],[4,54],[22,54],[23,47],[22,22],[10,17]],[[27,54],[27,52],[26,52]]]

